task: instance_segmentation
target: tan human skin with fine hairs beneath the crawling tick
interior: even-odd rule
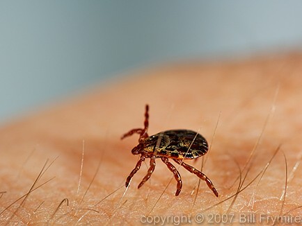
[[[301,217],[301,62],[296,53],[141,69],[3,125],[0,223],[133,225],[147,216],[170,216],[176,224],[177,216],[196,223],[197,214],[204,223],[211,214],[228,214],[235,223],[239,214],[255,214],[260,223],[260,214]],[[180,195],[161,159],[150,181],[137,189],[148,171],[146,159],[125,189],[138,160],[131,153],[138,134],[120,137],[143,127],[146,103],[149,135],[183,128],[207,139],[211,148],[202,172],[218,198],[203,181],[196,195],[198,177],[172,160],[182,175]],[[200,169],[202,160],[186,163]],[[237,190],[235,200],[225,200]]]

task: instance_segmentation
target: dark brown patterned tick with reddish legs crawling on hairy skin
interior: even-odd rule
[[[207,186],[218,197],[213,183],[209,180],[204,173],[198,171],[193,166],[190,166],[183,162],[184,159],[196,159],[202,155],[205,155],[208,150],[207,141],[198,132],[192,130],[166,130],[159,132],[149,137],[149,105],[145,105],[145,122],[144,128],[137,128],[130,130],[122,135],[121,139],[129,137],[134,133],[139,134],[138,145],[132,149],[133,155],[141,155],[140,159],[136,163],[134,170],[130,173],[126,180],[126,187],[129,186],[129,182],[134,174],[141,168],[142,162],[146,158],[150,158],[150,168],[147,175],[143,177],[143,180],[138,184],[138,189],[149,180],[155,168],[155,159],[161,159],[168,169],[173,173],[175,180],[177,181],[177,189],[175,195],[179,195],[182,191],[182,177],[177,171],[177,168],[169,162],[169,159],[173,159],[174,162],[183,166],[187,171],[197,175],[201,180],[207,182]]]

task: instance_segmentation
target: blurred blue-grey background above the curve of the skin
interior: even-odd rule
[[[122,71],[299,50],[302,1],[1,1],[0,123]]]

